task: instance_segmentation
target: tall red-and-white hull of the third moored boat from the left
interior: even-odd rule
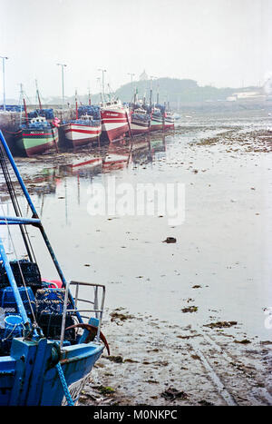
[[[120,140],[129,131],[128,114],[125,109],[111,111],[101,110],[102,119],[102,140],[113,141]]]

